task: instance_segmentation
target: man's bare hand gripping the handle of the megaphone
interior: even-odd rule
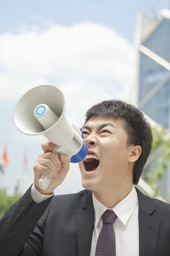
[[[42,143],[42,149],[44,154],[40,155],[34,164],[34,186],[42,195],[51,195],[65,179],[70,168],[70,157],[60,154],[58,159],[54,154],[57,146],[50,142]],[[46,190],[40,189],[38,185],[42,173],[51,180]]]

